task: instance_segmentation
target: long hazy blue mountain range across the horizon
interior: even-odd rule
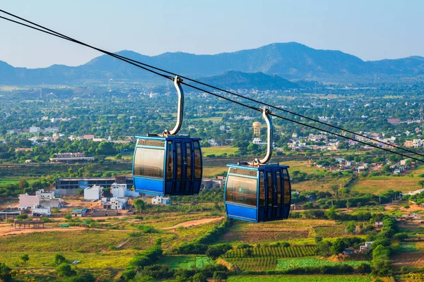
[[[215,55],[167,52],[145,56],[134,51],[119,51],[117,54],[191,78],[201,78],[204,82],[220,81],[219,86],[232,88],[282,89],[296,87],[295,80],[400,81],[421,79],[424,75],[424,57],[363,61],[341,51],[313,49],[296,42]],[[107,55],[81,66],[53,65],[34,69],[14,68],[0,61],[1,85],[73,85],[110,78],[143,82],[160,80],[156,75]]]

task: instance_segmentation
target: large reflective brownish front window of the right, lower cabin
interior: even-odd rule
[[[226,198],[227,202],[256,207],[257,179],[228,176]]]

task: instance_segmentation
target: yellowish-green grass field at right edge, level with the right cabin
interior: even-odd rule
[[[359,178],[350,185],[353,191],[363,193],[380,194],[389,190],[401,190],[410,192],[421,189],[417,178],[401,176],[375,176],[370,178]]]

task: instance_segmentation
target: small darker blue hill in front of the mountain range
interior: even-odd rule
[[[299,85],[278,75],[265,73],[242,73],[240,71],[227,71],[222,75],[208,78],[199,78],[201,82],[225,89],[256,89],[256,90],[285,90],[298,88]]]

